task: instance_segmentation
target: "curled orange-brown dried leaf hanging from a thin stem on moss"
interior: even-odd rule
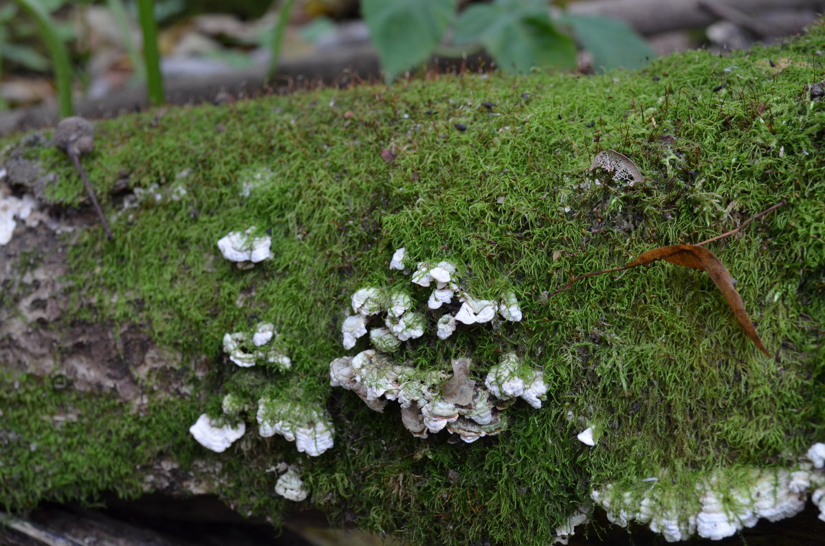
[[[642,252],[634,261],[629,262],[625,267],[642,266],[653,261],[664,260],[669,261],[677,266],[691,267],[700,271],[707,271],[710,278],[713,279],[716,287],[722,292],[725,301],[733,310],[739,324],[745,329],[747,337],[751,338],[754,345],[770,356],[771,353],[767,351],[762,341],[759,339],[756,328],[753,327],[751,318],[745,311],[745,304],[742,302],[742,297],[733,287],[733,277],[730,275],[728,268],[724,266],[722,261],[710,252],[705,247],[697,247],[696,245],[673,245],[672,247],[659,247],[648,252]]]

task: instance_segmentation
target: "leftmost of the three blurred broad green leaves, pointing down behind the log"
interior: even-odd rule
[[[388,82],[427,59],[455,16],[457,0],[363,0],[361,12]]]

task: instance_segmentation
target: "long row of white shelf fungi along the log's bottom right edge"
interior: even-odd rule
[[[640,500],[631,492],[616,492],[612,485],[592,492],[592,498],[612,523],[624,527],[635,520],[662,534],[667,542],[687,540],[693,534],[719,540],[757,525],[762,518],[778,521],[799,514],[809,491],[821,511],[819,519],[825,520],[825,444],[813,445],[807,459],[790,469],[751,468],[745,482],[734,487],[714,474],[697,485],[695,506],[700,510],[689,514],[668,503],[663,498],[667,493],[659,494],[656,478],[648,478],[654,485]]]

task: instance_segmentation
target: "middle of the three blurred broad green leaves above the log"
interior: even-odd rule
[[[498,0],[468,7],[455,25],[455,43],[474,42],[483,44],[501,68],[517,73],[576,65],[576,45],[556,31],[541,1]]]

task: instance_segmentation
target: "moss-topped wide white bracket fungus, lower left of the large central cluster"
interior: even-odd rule
[[[332,447],[335,429],[321,409],[298,402],[261,398],[258,400],[258,433],[264,438],[280,434],[295,442],[299,452],[316,457]]]

